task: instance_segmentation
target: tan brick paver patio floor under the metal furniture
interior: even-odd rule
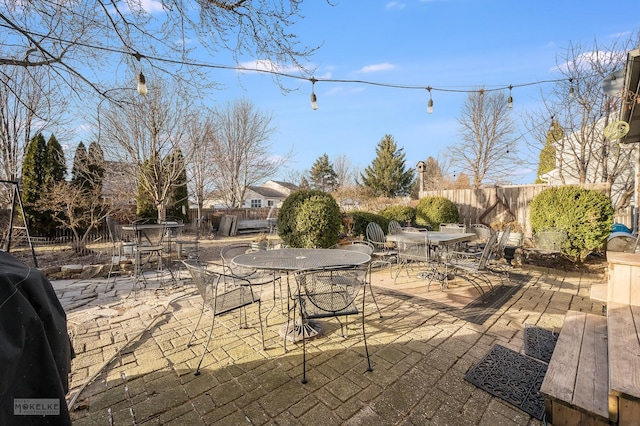
[[[568,309],[601,314],[602,303],[590,300],[589,290],[605,278],[514,272],[520,288],[479,325],[456,315],[477,296],[464,284],[445,292],[432,285],[427,293],[415,274],[403,272],[394,285],[388,269],[376,271],[372,282],[384,318],[369,294],[366,318],[374,371],[365,371],[359,324],[352,322],[344,339],[327,320],[323,335],[308,341],[306,385],[300,344],[283,353],[281,315],[269,317],[264,351],[258,330],[240,329],[236,315],[219,317],[196,377],[210,323],[200,325],[187,347],[201,305],[188,280],[166,294],[152,284],[135,297],[130,279],[119,278],[113,289],[104,279],[54,281],[77,355],[69,393],[74,425],[542,424],[463,376],[495,343],[523,352],[525,325],[559,330]],[[265,289],[263,318],[271,303]],[[257,308],[248,313],[257,326]]]

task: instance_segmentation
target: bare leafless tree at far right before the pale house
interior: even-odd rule
[[[539,152],[547,141],[551,118],[562,128],[555,140],[556,169],[562,184],[608,183],[615,192],[614,205],[623,207],[633,195],[632,150],[604,137],[604,128],[618,120],[621,98],[602,89],[605,77],[624,67],[628,50],[637,46],[630,38],[608,46],[594,42],[584,47],[570,44],[558,55],[557,69],[564,77],[545,96],[545,111],[527,126],[539,129],[534,137]],[[546,125],[536,125],[540,122]],[[553,142],[553,141],[552,141]]]

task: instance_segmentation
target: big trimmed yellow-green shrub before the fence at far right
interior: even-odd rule
[[[582,261],[602,249],[613,226],[611,200],[600,191],[578,186],[548,188],[531,201],[531,228],[534,233],[548,228],[567,232],[561,250]]]

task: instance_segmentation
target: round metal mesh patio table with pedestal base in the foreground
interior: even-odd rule
[[[290,292],[288,275],[290,272],[335,266],[364,265],[371,261],[371,256],[351,250],[283,248],[241,254],[231,261],[244,268],[287,273],[287,289]],[[307,322],[305,324],[287,323],[280,330],[280,334],[285,340],[296,342],[317,336],[320,330],[320,325],[316,322]]]

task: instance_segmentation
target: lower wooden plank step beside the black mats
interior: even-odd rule
[[[568,311],[540,393],[547,422],[609,424],[607,318]]]

